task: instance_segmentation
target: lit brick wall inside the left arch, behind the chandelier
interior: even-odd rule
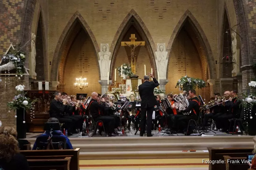
[[[80,78],[81,76],[80,46],[82,47],[82,78],[87,78],[88,82],[88,87],[82,90],[74,88],[75,78]],[[66,66],[65,70],[63,70],[65,73],[65,86],[58,90],[65,91],[69,95],[76,95],[76,93],[90,95],[93,91],[101,91],[101,86],[98,83],[99,75],[96,58],[93,43],[88,34],[82,30],[74,39],[66,57]]]

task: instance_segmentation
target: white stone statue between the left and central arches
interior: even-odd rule
[[[100,44],[100,52],[99,52],[99,65],[100,65],[100,74],[101,80],[108,79],[108,72],[110,68],[110,54],[109,52],[109,44]]]

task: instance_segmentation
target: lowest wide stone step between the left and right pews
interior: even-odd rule
[[[111,152],[80,152],[80,160],[101,159],[175,159],[202,158],[209,159],[209,153],[202,150],[196,152],[182,151],[111,151]]]

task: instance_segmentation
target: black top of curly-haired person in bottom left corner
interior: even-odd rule
[[[29,170],[29,165],[26,157],[17,153],[10,162],[5,159],[0,159],[0,167],[4,170]]]

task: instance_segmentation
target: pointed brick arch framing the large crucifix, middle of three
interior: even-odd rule
[[[136,26],[136,29],[142,36],[142,39],[145,40],[145,46],[147,53],[149,54],[150,57],[150,64],[153,66],[154,73],[156,75],[156,62],[155,62],[155,43],[154,40],[148,31],[145,23],[142,21],[140,16],[132,9],[127,16],[124,18],[123,22],[120,24],[114,39],[112,41],[111,47],[110,47],[110,52],[111,52],[111,65],[110,65],[110,77],[113,77],[114,73],[114,66],[115,66],[115,61],[116,61],[116,55],[118,53],[122,38],[124,34],[127,32],[127,30],[130,28],[132,23],[130,22],[132,19],[134,19],[134,24]]]

